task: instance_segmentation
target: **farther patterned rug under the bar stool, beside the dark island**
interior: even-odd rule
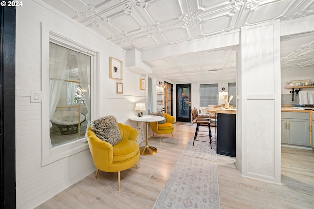
[[[214,139],[214,137],[212,137]],[[196,140],[202,141],[195,141],[193,145],[194,135],[186,145],[182,155],[190,156],[190,157],[198,157],[201,159],[207,159],[210,161],[217,162],[217,153],[216,153],[216,142],[212,141],[212,149],[210,149],[209,142],[202,142],[202,141],[209,141],[209,137],[199,137],[197,136]]]

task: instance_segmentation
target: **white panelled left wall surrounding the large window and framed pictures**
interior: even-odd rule
[[[37,2],[37,1],[36,1]],[[49,30],[67,39],[79,43],[95,52],[99,52],[99,115],[115,115],[119,122],[135,124],[128,120],[135,114],[135,103],[146,102],[146,91],[139,89],[138,75],[123,66],[124,94],[115,93],[116,80],[109,78],[109,57],[115,57],[125,63],[125,51],[111,42],[102,39],[91,30],[55,14],[51,7],[42,7],[39,3],[27,1],[16,8],[16,198],[17,208],[34,208],[55,194],[78,182],[95,170],[88,149],[69,157],[62,158],[46,166],[41,165],[43,106],[49,104],[31,103],[32,90],[42,91],[41,24]],[[40,1],[38,1],[40,2]],[[44,43],[47,44],[47,43]],[[47,64],[47,63],[44,63]],[[95,72],[94,72],[95,73]],[[43,96],[49,94],[42,92]],[[97,105],[95,105],[97,106]],[[140,140],[140,138],[139,138]]]

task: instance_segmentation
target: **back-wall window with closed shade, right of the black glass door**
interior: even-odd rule
[[[218,104],[218,84],[201,84],[200,85],[200,106]]]

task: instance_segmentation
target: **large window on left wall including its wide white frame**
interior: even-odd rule
[[[99,52],[50,31],[45,24],[41,32],[41,165],[45,166],[88,149],[86,128],[99,115]]]

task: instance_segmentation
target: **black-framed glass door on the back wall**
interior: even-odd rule
[[[177,121],[191,122],[191,84],[177,84]]]

